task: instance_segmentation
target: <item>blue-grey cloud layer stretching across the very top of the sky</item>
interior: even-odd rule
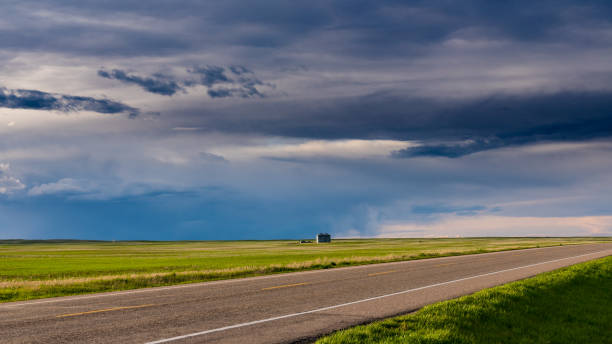
[[[95,56],[171,55],[223,46],[255,51],[319,37],[318,44],[308,45],[310,52],[372,58],[410,55],[457,32],[525,42],[601,44],[603,36],[591,41],[559,32],[612,21],[612,4],[607,1],[321,0],[299,4],[270,0],[249,6],[242,1],[188,0],[154,5],[119,0],[14,3],[19,6],[3,6],[5,19],[15,24],[0,29],[3,49]],[[39,15],[41,10],[50,13]],[[71,16],[100,21],[71,20]],[[143,19],[159,25],[136,25]],[[340,34],[342,44],[326,42],[330,34]]]

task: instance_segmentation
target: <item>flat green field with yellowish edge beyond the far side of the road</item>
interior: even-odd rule
[[[612,238],[0,241],[0,302]]]

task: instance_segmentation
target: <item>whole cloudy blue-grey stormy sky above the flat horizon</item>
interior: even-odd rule
[[[0,135],[0,238],[612,235],[612,4],[6,0]]]

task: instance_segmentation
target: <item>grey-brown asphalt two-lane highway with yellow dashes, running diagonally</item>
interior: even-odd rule
[[[0,342],[309,342],[608,255],[557,246],[5,303]]]

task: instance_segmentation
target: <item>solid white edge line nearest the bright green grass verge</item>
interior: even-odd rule
[[[374,296],[374,297],[370,297],[370,298],[367,298],[367,299],[362,299],[362,300],[342,303],[342,304],[339,304],[339,305],[328,306],[328,307],[323,307],[323,308],[317,308],[317,309],[313,309],[313,310],[310,310],[310,311],[293,313],[293,314],[286,314],[286,315],[281,315],[281,316],[267,318],[267,319],[261,319],[261,320],[249,321],[249,322],[246,322],[246,323],[241,323],[241,324],[236,324],[236,325],[219,327],[219,328],[215,328],[215,329],[212,329],[212,330],[206,330],[206,331],[201,331],[201,332],[190,333],[190,334],[186,334],[186,335],[182,335],[182,336],[176,336],[176,337],[167,338],[167,339],[160,339],[160,340],[156,340],[156,341],[153,341],[153,342],[148,342],[146,344],[168,343],[168,342],[172,342],[172,341],[175,341],[175,340],[186,339],[186,338],[191,338],[191,337],[201,336],[201,335],[205,335],[205,334],[210,334],[210,333],[215,333],[215,332],[231,330],[231,329],[240,328],[240,327],[257,325],[257,324],[261,324],[261,323],[265,323],[265,322],[270,322],[270,321],[275,321],[275,320],[293,318],[293,317],[297,317],[297,316],[300,316],[300,315],[306,315],[306,314],[312,314],[312,313],[317,313],[317,312],[328,311],[330,309],[335,309],[335,308],[350,306],[350,305],[354,305],[354,304],[358,304],[358,303],[378,300],[378,299],[382,299],[382,298],[390,297],[390,296],[407,294],[407,293],[411,293],[411,292],[414,292],[414,291],[419,291],[419,290],[423,290],[423,289],[439,287],[439,286],[443,286],[443,285],[447,285],[447,284],[451,284],[451,283],[462,282],[462,281],[466,281],[466,280],[470,280],[470,279],[474,279],[474,278],[479,278],[479,277],[484,277],[484,276],[495,275],[495,274],[499,274],[499,273],[502,273],[502,272],[514,271],[514,270],[529,268],[529,267],[532,267],[532,266],[538,266],[538,265],[543,265],[543,264],[555,263],[555,262],[559,262],[559,261],[567,260],[567,259],[574,259],[574,258],[591,256],[591,255],[594,255],[594,254],[599,254],[601,252],[605,252],[605,250],[604,251],[599,251],[599,252],[581,254],[579,256],[573,256],[573,257],[549,260],[549,261],[542,262],[542,263],[536,263],[536,264],[529,264],[529,265],[519,266],[519,267],[512,268],[512,269],[505,269],[505,270],[499,270],[499,271],[495,271],[495,272],[489,272],[489,273],[486,273],[486,274],[481,274],[481,275],[476,275],[476,276],[464,277],[464,278],[460,278],[460,279],[456,279],[456,280],[452,280],[452,281],[431,284],[431,285],[427,285],[427,286],[424,286],[424,287],[418,287],[418,288],[398,291],[398,292],[391,293],[391,294]]]

